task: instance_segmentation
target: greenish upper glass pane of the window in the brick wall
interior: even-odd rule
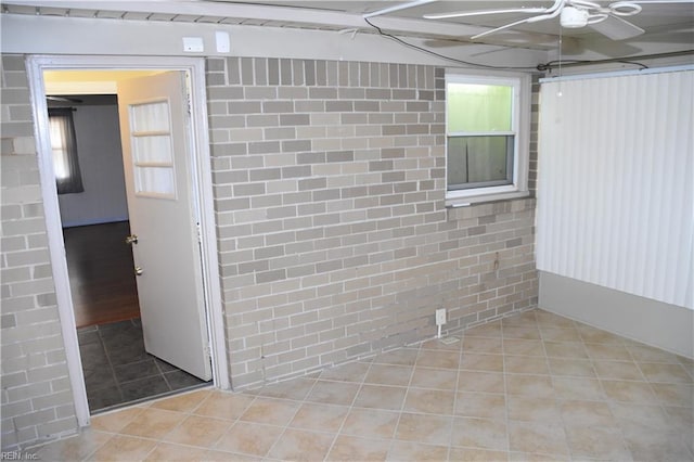
[[[448,131],[511,131],[513,87],[448,82]]]

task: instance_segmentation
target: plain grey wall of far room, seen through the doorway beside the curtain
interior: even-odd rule
[[[117,105],[82,105],[73,114],[85,192],[59,195],[63,227],[127,220]]]

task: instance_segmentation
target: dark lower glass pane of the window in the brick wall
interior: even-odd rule
[[[448,189],[512,184],[513,136],[449,137]]]

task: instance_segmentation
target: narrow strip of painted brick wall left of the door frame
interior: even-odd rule
[[[2,57],[2,450],[77,428],[23,56]]]

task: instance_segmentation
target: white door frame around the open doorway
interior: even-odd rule
[[[191,90],[191,150],[190,166],[194,204],[201,227],[201,259],[205,312],[216,387],[230,389],[224,322],[219,285],[219,266],[214,211],[211,156],[207,126],[207,98],[205,91],[205,60],[182,56],[106,56],[106,55],[29,55],[26,59],[34,131],[37,142],[41,196],[48,232],[48,246],[55,283],[55,295],[61,321],[69,381],[75,401],[77,422],[89,425],[89,405],[82,372],[77,326],[65,258],[63,228],[55,188],[51,143],[49,138],[48,106],[46,103],[44,70],[183,70],[190,76]]]

